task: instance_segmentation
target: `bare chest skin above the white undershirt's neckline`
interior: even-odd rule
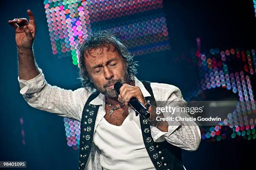
[[[125,118],[129,115],[128,106],[126,105],[118,110],[115,110],[111,114],[111,116],[109,116],[111,108],[106,105],[105,110],[106,110],[106,114],[104,116],[105,120],[107,120],[107,122],[115,126],[122,125]]]

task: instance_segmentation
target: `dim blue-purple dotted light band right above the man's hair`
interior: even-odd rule
[[[170,49],[164,13],[150,10],[128,15],[123,20],[112,19],[92,23],[93,30],[110,30],[134,55],[145,55]]]

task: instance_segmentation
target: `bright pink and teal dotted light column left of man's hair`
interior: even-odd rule
[[[86,1],[44,0],[50,32],[52,53],[72,56],[77,65],[75,46],[83,34],[91,32],[90,16]]]

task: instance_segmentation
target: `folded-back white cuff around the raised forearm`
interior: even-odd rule
[[[41,88],[44,87],[44,85],[46,84],[46,81],[44,80],[44,74],[41,68],[38,68],[38,70],[40,73],[30,80],[22,80],[20,79],[20,76],[18,76],[18,82],[20,84],[20,94],[25,95],[38,92],[38,90],[41,90]]]

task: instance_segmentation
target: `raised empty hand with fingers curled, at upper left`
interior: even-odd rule
[[[36,23],[31,10],[27,10],[29,23],[26,18],[15,18],[8,23],[15,29],[15,41],[18,48],[31,49],[36,36]]]

